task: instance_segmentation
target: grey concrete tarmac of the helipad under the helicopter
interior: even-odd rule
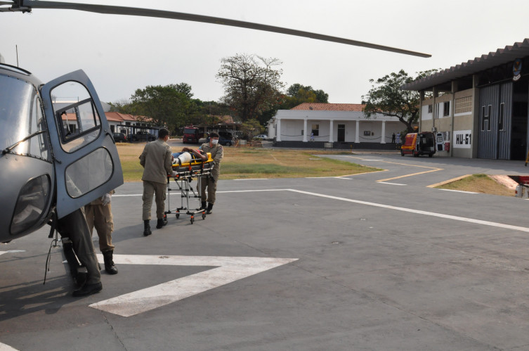
[[[219,181],[148,237],[120,186],[119,274],[86,298],[60,248],[43,285],[48,228],[0,244],[0,350],[529,350],[528,200],[427,187],[523,162],[331,157],[384,171]]]

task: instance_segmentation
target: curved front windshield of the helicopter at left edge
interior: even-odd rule
[[[1,150],[50,160],[46,121],[32,84],[0,75],[0,125]]]

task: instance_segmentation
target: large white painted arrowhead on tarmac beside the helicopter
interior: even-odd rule
[[[89,307],[122,317],[131,317],[150,309],[169,305],[212,288],[298,260],[297,258],[158,255],[114,255],[113,259],[116,264],[217,266],[204,272],[89,305]],[[98,255],[98,260],[103,262],[103,256]]]

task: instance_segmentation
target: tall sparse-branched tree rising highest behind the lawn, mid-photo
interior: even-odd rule
[[[242,122],[259,117],[280,98],[282,70],[274,69],[280,64],[277,58],[247,54],[221,59],[216,78],[224,86],[222,101]]]

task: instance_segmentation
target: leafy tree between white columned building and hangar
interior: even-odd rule
[[[419,92],[401,90],[400,87],[434,72],[437,70],[418,72],[415,77],[410,77],[404,70],[400,70],[385,75],[376,82],[370,79],[370,83],[375,84],[367,95],[362,96],[365,117],[370,118],[377,113],[397,117],[406,125],[407,132],[413,132],[412,124],[419,120]]]

